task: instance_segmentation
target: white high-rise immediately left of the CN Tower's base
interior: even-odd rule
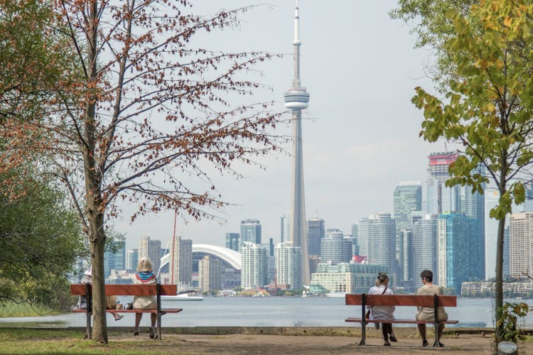
[[[280,243],[274,249],[276,283],[290,285],[293,290],[301,290],[301,248],[292,241]]]

